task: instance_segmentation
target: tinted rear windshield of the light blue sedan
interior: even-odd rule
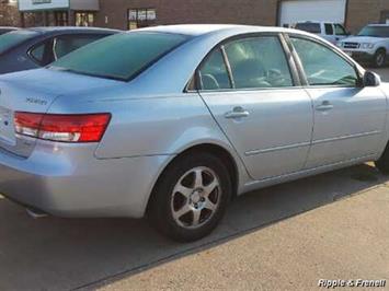
[[[70,53],[50,69],[129,81],[186,39],[168,33],[116,34]]]

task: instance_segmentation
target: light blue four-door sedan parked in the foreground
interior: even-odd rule
[[[0,193],[36,214],[147,216],[193,241],[243,193],[366,161],[389,172],[389,86],[299,31],[138,30],[0,90]]]

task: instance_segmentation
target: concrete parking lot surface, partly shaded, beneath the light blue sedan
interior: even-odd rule
[[[389,81],[388,71],[378,73]],[[319,279],[389,280],[388,225],[389,177],[371,164],[242,196],[215,233],[192,244],[145,221],[33,220],[0,198],[0,290],[314,290]]]

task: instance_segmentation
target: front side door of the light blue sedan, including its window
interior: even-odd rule
[[[314,127],[307,168],[379,152],[386,96],[363,88],[354,63],[318,39],[290,36],[313,100]]]

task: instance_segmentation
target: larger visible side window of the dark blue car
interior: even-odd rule
[[[98,40],[99,38],[104,37],[102,36],[80,36],[80,35],[65,35],[55,38],[54,40],[54,56],[55,59],[59,59],[71,51],[83,47],[90,43]]]

